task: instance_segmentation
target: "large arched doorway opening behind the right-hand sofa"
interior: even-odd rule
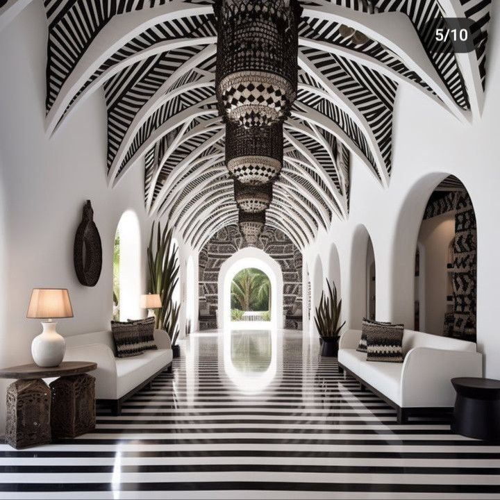
[[[428,197],[417,255],[415,328],[476,342],[476,215],[467,189],[455,176],[444,178]]]

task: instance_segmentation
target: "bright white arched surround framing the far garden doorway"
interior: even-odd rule
[[[231,282],[243,269],[253,267],[267,274],[271,283],[270,322],[231,322]],[[280,265],[265,251],[247,247],[228,258],[219,271],[219,328],[283,328],[283,274]]]

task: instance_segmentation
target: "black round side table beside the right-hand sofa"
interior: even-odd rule
[[[452,378],[457,396],[451,431],[485,441],[500,440],[500,381]]]

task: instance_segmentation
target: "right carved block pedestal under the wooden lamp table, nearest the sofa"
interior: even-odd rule
[[[95,378],[75,375],[58,378],[52,392],[53,437],[76,437],[95,429]]]

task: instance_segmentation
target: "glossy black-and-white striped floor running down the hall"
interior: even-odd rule
[[[301,333],[193,334],[97,431],[0,445],[0,498],[499,499],[500,445],[408,425]]]

